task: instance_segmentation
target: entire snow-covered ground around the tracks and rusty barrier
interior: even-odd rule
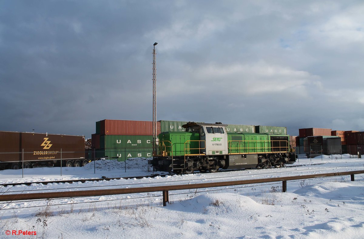
[[[25,178],[21,178],[21,169],[5,170],[0,171],[0,181],[51,181],[152,173],[148,172],[145,159],[127,162],[130,167],[126,173],[124,163],[96,163],[84,168],[68,168],[67,175],[63,176],[57,168],[27,169]],[[18,185],[2,187],[0,193],[193,184],[364,170],[364,160],[349,155],[300,158],[292,166],[297,165],[301,166],[196,172],[194,175],[84,184]],[[27,236],[23,235],[25,238],[363,238],[364,235],[363,175],[355,175],[354,182],[350,181],[350,176],[288,181],[286,193],[281,192],[281,183],[169,193],[170,204],[166,207],[162,206],[160,192],[0,203],[0,238],[16,238],[13,231],[27,233]],[[32,232],[33,235],[29,235]]]

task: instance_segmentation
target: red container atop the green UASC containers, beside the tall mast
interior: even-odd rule
[[[157,134],[161,122],[157,122]],[[100,121],[100,134],[105,135],[153,135],[153,121],[104,119]]]

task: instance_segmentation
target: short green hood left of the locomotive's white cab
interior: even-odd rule
[[[199,140],[200,136],[196,133],[164,132],[159,134],[159,150],[165,151],[167,156],[198,154],[199,148],[201,148]]]

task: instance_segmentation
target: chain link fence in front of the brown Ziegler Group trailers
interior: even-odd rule
[[[95,177],[96,173],[120,173],[152,171],[147,163],[152,149],[90,149],[85,151],[31,151],[0,152],[0,182],[13,178],[57,176]],[[129,176],[129,175],[128,175]],[[130,175],[131,176],[131,175]],[[138,176],[138,175],[135,175]],[[3,181],[4,182],[4,181]]]

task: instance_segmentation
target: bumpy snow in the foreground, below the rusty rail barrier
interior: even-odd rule
[[[293,193],[258,191],[170,195],[166,207],[150,194],[114,205],[100,202],[37,212],[15,208],[2,216],[0,233],[28,230],[43,238],[363,238],[362,181],[327,181]],[[348,192],[354,192],[352,198],[340,196]],[[116,198],[123,196],[100,200]]]

